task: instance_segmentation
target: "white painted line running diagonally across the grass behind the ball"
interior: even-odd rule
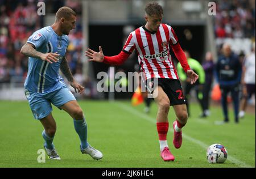
[[[126,110],[127,112],[130,112],[130,113],[132,113],[132,114],[135,114],[135,116],[138,116],[138,117],[140,117],[140,118],[143,118],[144,120],[147,120],[147,121],[149,121],[149,122],[151,122],[151,123],[154,123],[154,124],[156,123],[155,118],[152,118],[152,117],[150,117],[150,116],[147,116],[146,114],[144,114],[144,113],[142,113],[142,112],[139,112],[138,110],[136,110],[136,109],[134,109],[134,108],[131,108],[131,106],[129,106],[129,105],[126,105],[126,104],[123,104],[123,103],[120,103],[120,102],[115,102],[115,103],[113,103],[113,104],[117,105],[119,108],[121,108],[121,109],[123,109],[123,110]],[[171,127],[169,127],[169,131],[171,131],[171,132],[173,133],[173,130],[172,130]],[[208,145],[207,145],[207,144],[205,144],[205,143],[203,143],[203,142],[201,142],[200,140],[197,140],[197,139],[195,139],[195,138],[189,137],[188,135],[186,135],[186,134],[184,134],[184,133],[182,133],[182,135],[183,135],[183,137],[184,137],[185,139],[189,140],[190,142],[196,143],[196,144],[198,144],[199,146],[203,147],[205,150],[207,150],[207,148],[208,148]],[[230,155],[228,156],[228,159],[227,159],[227,160],[229,160],[229,161],[231,161],[232,163],[234,163],[234,164],[236,164],[236,165],[238,165],[238,166],[240,166],[240,167],[243,167],[243,168],[254,168],[254,167],[252,167],[251,165],[248,165],[248,164],[246,164],[246,163],[244,163],[244,162],[242,162],[242,161],[240,161],[240,160],[238,160],[238,159],[236,159],[235,157],[232,157],[232,156],[230,156]]]

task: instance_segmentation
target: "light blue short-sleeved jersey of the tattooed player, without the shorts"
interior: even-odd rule
[[[36,51],[42,53],[58,53],[59,61],[49,63],[39,58],[28,58],[28,74],[25,88],[30,92],[48,93],[63,87],[63,78],[59,75],[60,63],[65,56],[69,43],[68,36],[58,36],[51,26],[44,27],[34,32],[27,40],[35,45]]]

